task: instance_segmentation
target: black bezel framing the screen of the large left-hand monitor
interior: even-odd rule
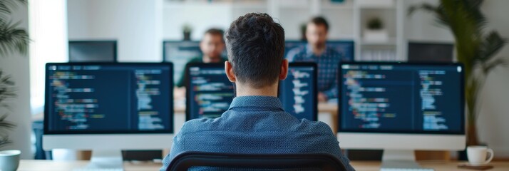
[[[49,83],[49,75],[48,75],[48,66],[91,66],[91,65],[99,65],[99,66],[167,66],[169,67],[169,78],[170,79],[170,85],[168,88],[171,88],[172,90],[169,90],[169,96],[170,101],[168,103],[168,107],[170,108],[170,128],[165,130],[105,130],[105,131],[97,131],[97,130],[83,130],[83,131],[76,131],[76,130],[49,130],[49,108],[47,102],[49,102],[49,95],[50,95],[50,83]],[[174,132],[174,126],[175,126],[175,111],[173,108],[173,63],[166,62],[166,63],[103,63],[103,62],[90,62],[90,63],[46,63],[45,66],[45,88],[44,88],[44,126],[43,126],[43,134],[44,135],[84,135],[84,134],[93,134],[93,135],[102,135],[102,134],[173,134]]]

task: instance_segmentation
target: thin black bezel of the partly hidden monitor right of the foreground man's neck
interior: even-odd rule
[[[314,104],[313,104],[313,115],[312,115],[312,121],[318,121],[318,66],[317,66],[317,63],[314,63],[314,62],[291,62],[291,63],[288,63],[288,70],[291,68],[291,67],[312,67],[313,68],[313,78],[314,78],[314,81],[313,81],[313,101],[314,101]],[[281,82],[281,81],[279,81]],[[281,83],[278,83],[278,87],[277,87],[277,98],[279,98],[279,96],[281,95]]]

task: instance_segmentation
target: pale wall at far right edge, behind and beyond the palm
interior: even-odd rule
[[[509,1],[484,1],[483,13],[488,18],[488,28],[495,29],[501,36],[509,39],[509,20],[507,19]],[[496,56],[509,62],[509,44]],[[509,157],[509,66],[495,69],[488,76],[480,98],[478,120],[480,141],[495,150],[495,156]]]

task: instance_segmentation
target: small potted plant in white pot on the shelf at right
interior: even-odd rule
[[[364,41],[386,42],[389,40],[389,33],[384,29],[384,23],[379,17],[373,17],[366,23],[364,29]]]

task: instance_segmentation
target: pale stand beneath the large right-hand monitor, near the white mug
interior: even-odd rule
[[[384,150],[381,170],[423,169],[416,162],[413,150]]]

